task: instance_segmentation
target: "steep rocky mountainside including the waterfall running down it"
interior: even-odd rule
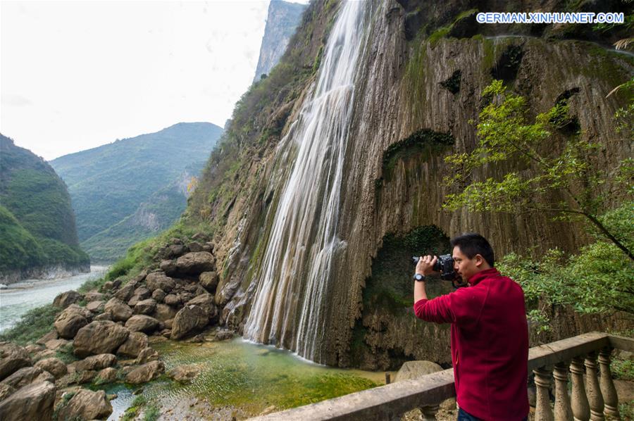
[[[619,12],[614,4],[605,11]],[[505,7],[561,11],[538,0]],[[126,259],[137,265],[130,277],[169,256],[166,239],[192,244],[182,233],[204,229],[216,258],[219,325],[328,365],[449,366],[447,325],[412,315],[411,256],[446,252],[461,232],[490,239],[496,258],[528,248],[575,253],[591,241],[579,220],[443,206],[456,192],[445,158],[477,150],[474,123],[499,100],[487,95],[492,80],[526,99],[530,118],[563,108],[552,120],[572,121],[578,132],[553,132],[538,146],[557,153],[571,136],[598,143],[589,177],[631,158],[614,119],[629,94],[607,95],[634,75],[632,56],[611,49],[627,28],[477,23],[478,10],[498,8],[494,0],[312,1],[278,65],[237,103],[178,230],[144,248],[156,264],[144,267],[137,249]],[[487,161],[473,182],[535,170],[521,165]],[[597,189],[609,196],[617,178]],[[571,200],[564,194],[553,200]],[[430,296],[451,289],[429,287]],[[580,318],[553,323],[549,341],[588,326]]]

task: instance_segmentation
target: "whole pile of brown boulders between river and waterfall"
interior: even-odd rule
[[[187,244],[171,239],[156,256],[159,269],[85,294],[59,294],[50,332],[26,346],[0,342],[2,420],[106,419],[116,396],[87,387],[194,379],[197,370],[187,365],[166,373],[151,344],[233,337],[216,328],[216,258],[204,240],[203,234]]]

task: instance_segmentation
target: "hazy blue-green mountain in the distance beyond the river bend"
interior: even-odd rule
[[[174,186],[199,175],[222,131],[181,122],[51,161],[68,185],[77,236],[92,259],[116,260],[178,219],[187,189]]]

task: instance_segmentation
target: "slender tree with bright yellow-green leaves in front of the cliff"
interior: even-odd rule
[[[624,88],[630,93],[630,103],[634,103],[633,84],[630,81]],[[493,80],[483,91],[483,98],[489,102],[476,126],[478,145],[471,153],[455,153],[445,158],[455,174],[445,182],[461,190],[447,195],[445,208],[456,210],[466,206],[475,212],[516,214],[541,212],[559,220],[586,220],[634,260],[631,246],[619,232],[609,230],[600,217],[607,211],[608,193],[602,184],[608,180],[615,187],[609,193],[612,202],[631,200],[634,196],[634,160],[629,158],[611,168],[597,170],[592,165],[592,156],[602,146],[580,135],[567,99],[561,99],[530,122],[526,99],[508,92],[501,80]],[[623,134],[619,140],[623,142],[632,139],[631,110],[631,106],[621,108],[621,115],[616,115],[625,118],[625,122],[619,122]],[[559,138],[560,146],[555,146]],[[485,167],[514,170],[506,171],[501,180],[490,177],[478,181],[476,176]],[[562,196],[563,199],[553,199]]]

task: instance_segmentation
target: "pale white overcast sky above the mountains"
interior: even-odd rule
[[[306,3],[306,1],[296,1]],[[47,160],[230,118],[268,1],[0,1],[0,132]]]

